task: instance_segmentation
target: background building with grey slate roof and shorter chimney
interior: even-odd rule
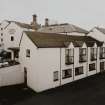
[[[59,34],[65,34],[65,35],[79,35],[84,36],[88,33],[87,30],[82,29],[78,26],[63,23],[63,24],[49,24],[49,19],[45,19],[45,25],[42,26],[40,29],[38,29],[38,32],[44,32],[44,33],[59,33]]]

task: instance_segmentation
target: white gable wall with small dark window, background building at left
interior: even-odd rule
[[[14,30],[13,33],[10,31]],[[5,49],[9,47],[19,47],[20,39],[22,36],[23,29],[20,28],[18,25],[16,25],[14,22],[12,22],[4,32],[4,46]],[[11,36],[14,37],[14,41],[11,41]]]

